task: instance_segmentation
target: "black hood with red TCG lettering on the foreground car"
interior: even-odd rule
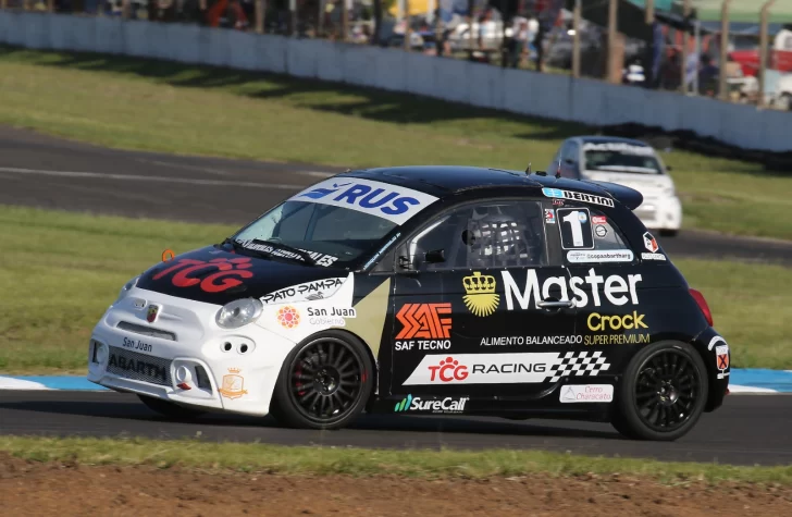
[[[297,287],[292,299],[314,299],[341,285],[349,272],[249,257],[214,246],[178,255],[143,273],[137,286],[170,296],[225,305],[239,298],[277,298]],[[300,285],[305,288],[300,291]],[[332,293],[330,293],[332,294]],[[312,298],[313,297],[313,298]]]

